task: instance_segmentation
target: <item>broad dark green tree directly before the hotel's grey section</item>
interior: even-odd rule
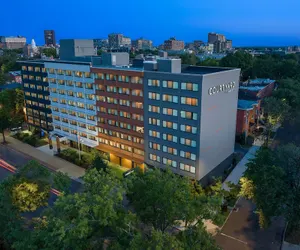
[[[130,180],[128,197],[141,220],[155,230],[165,232],[168,227],[184,221],[186,225],[210,218],[220,208],[220,200],[195,195],[187,178],[155,169]],[[178,209],[180,207],[180,209]]]

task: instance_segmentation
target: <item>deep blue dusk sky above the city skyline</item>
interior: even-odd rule
[[[57,40],[118,32],[159,45],[171,36],[207,41],[211,31],[233,46],[300,45],[300,0],[9,0],[1,9],[0,36],[38,45],[44,29],[54,29]]]

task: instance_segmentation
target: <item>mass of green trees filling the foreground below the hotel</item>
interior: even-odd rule
[[[217,250],[204,219],[221,211],[220,183],[204,191],[158,169],[118,179],[95,161],[82,190],[36,162],[0,184],[0,239],[5,249]],[[58,176],[56,176],[58,175]],[[50,186],[64,191],[48,204]],[[176,229],[176,226],[184,230]]]

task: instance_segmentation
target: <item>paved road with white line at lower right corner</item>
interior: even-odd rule
[[[260,229],[255,205],[240,199],[237,210],[229,216],[221,232],[215,237],[223,250],[280,250],[285,223],[273,221],[268,229]]]

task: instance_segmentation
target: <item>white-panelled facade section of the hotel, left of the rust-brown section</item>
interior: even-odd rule
[[[90,63],[46,61],[53,133],[71,146],[98,145],[94,75]]]

